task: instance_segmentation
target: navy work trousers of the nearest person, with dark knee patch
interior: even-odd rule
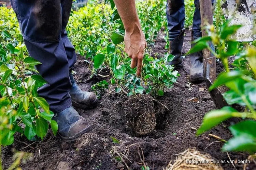
[[[58,113],[71,105],[69,68],[76,53],[67,37],[66,26],[72,0],[11,0],[25,45],[41,65],[36,69],[47,81],[38,89],[50,110]]]

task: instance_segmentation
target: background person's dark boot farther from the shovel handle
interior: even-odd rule
[[[174,65],[175,68],[183,67],[183,58],[181,50],[184,41],[184,32],[185,29],[182,29],[179,36],[177,36],[174,40],[169,41],[169,54],[172,54],[175,57],[173,58],[172,61],[166,63],[166,65]]]

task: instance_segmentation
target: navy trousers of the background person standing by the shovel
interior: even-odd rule
[[[215,0],[212,0],[212,4]],[[193,17],[193,34],[197,37],[202,36],[201,32],[201,16],[199,0],[194,0],[196,10]],[[179,36],[185,23],[185,4],[184,0],[167,0],[166,16],[168,22],[169,40],[174,40]]]

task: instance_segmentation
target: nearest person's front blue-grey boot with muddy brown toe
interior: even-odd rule
[[[92,129],[88,120],[80,116],[72,106],[55,114],[53,120],[58,123],[58,134],[63,140],[75,140]]]

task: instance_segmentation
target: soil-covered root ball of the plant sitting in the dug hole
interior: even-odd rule
[[[151,96],[131,97],[124,105],[127,130],[138,136],[153,132],[156,128],[154,102]]]

